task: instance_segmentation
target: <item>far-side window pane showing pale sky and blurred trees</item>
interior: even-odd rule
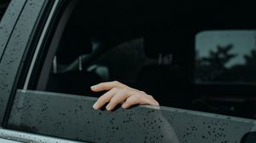
[[[256,31],[202,31],[195,37],[196,83],[255,83]]]

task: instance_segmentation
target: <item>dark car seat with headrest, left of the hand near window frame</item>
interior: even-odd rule
[[[92,45],[87,32],[71,20],[61,38],[61,44],[55,54],[53,72],[49,74],[46,90],[66,94],[83,94],[93,96],[90,86],[102,82],[94,72],[82,68],[82,63],[66,70],[75,60],[81,62],[82,55],[90,54]],[[81,66],[81,67],[80,67]]]

